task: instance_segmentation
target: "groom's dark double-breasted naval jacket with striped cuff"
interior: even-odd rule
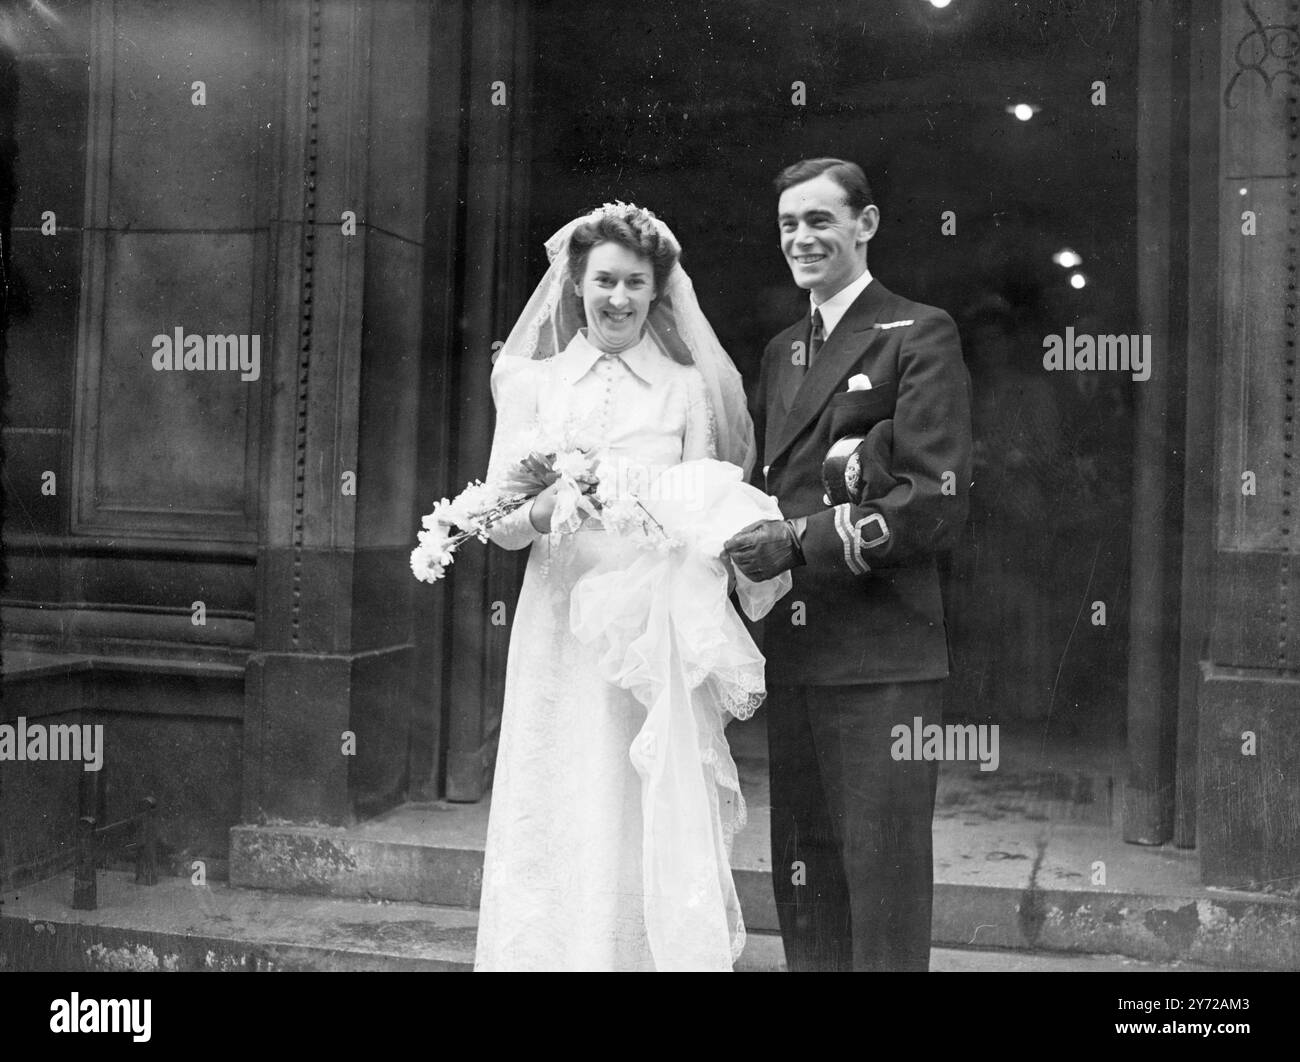
[[[807,564],[793,571],[793,593],[766,623],[767,681],[942,679],[936,555],[956,543],[971,485],[970,377],[957,326],[878,279],[805,369],[792,354],[806,347],[807,326],[805,317],[767,344],[751,409],[755,485],[786,517],[807,517]],[[848,390],[858,373],[870,390]],[[861,506],[828,507],[822,464],[831,443],[885,419],[893,420],[893,486]]]

